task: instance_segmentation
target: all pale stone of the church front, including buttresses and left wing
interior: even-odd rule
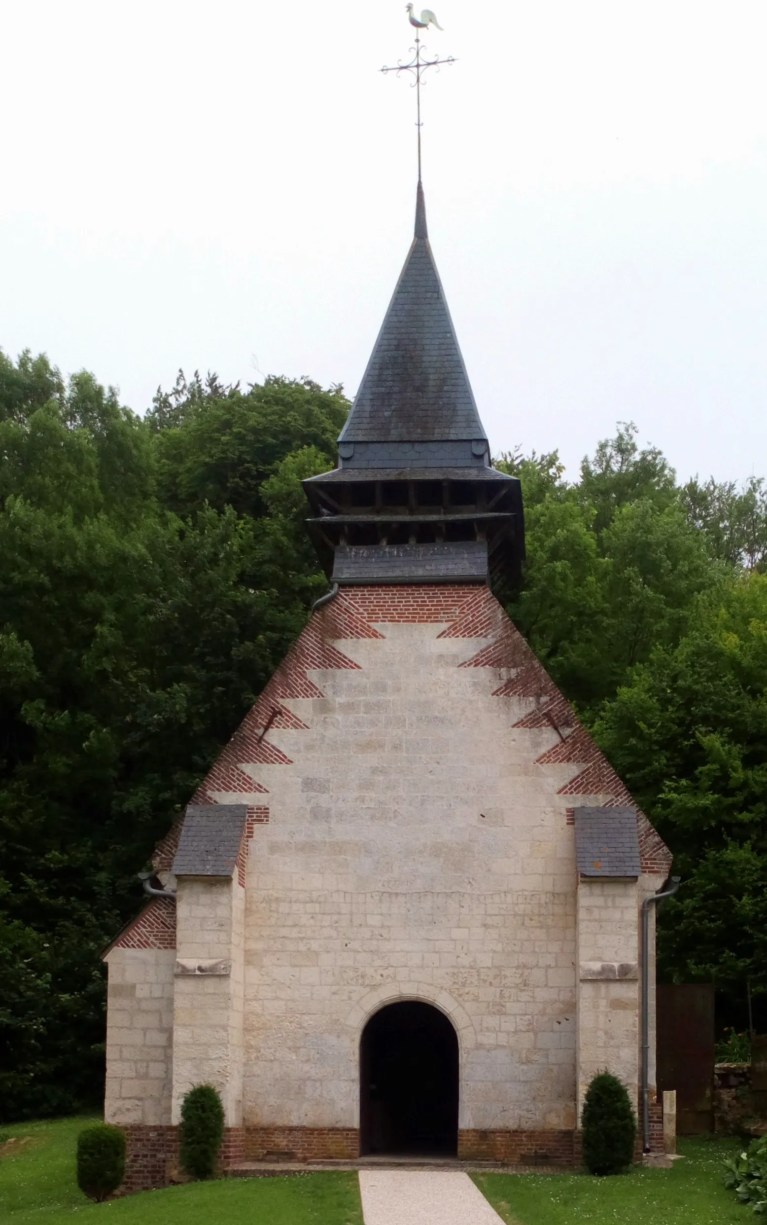
[[[638,908],[662,878],[578,884],[566,810],[610,796],[557,794],[582,763],[537,764],[561,741],[515,726],[535,697],[459,666],[486,639],[380,630],[338,642],[358,669],[310,670],[321,697],[279,697],[306,725],[268,728],[289,763],[236,761],[270,811],[246,888],[181,878],[176,951],[109,953],[111,1121],[178,1122],[212,1083],[228,1126],[357,1127],[361,1031],[408,998],[456,1028],[461,1128],[570,1129],[605,1067],[636,1101]],[[654,993],[651,1023],[653,1083]]]

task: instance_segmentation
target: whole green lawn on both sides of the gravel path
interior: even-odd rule
[[[363,1225],[355,1174],[227,1178],[89,1203],[75,1181],[77,1133],[91,1120],[17,1123],[0,1131],[2,1225]],[[13,1137],[13,1143],[2,1144]],[[722,1163],[739,1140],[680,1140],[673,1170],[588,1175],[478,1174],[508,1225],[751,1225],[725,1191]]]

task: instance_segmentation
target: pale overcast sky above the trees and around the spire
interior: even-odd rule
[[[765,0],[433,0],[429,230],[495,451],[767,473]],[[357,390],[412,235],[399,0],[0,0],[0,347]]]

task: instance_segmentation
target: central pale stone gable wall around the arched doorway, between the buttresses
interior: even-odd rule
[[[245,1122],[357,1126],[364,1022],[412,997],[458,1029],[461,1127],[570,1128],[573,801],[556,791],[577,769],[535,764],[559,736],[513,726],[532,702],[493,697],[497,669],[458,666],[480,639],[380,628],[338,644],[359,671],[310,673],[325,696],[283,703],[309,729],[270,730],[293,764],[240,766],[270,793],[247,865]]]

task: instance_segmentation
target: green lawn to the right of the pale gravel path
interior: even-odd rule
[[[474,1181],[508,1225],[756,1225],[722,1181],[722,1163],[742,1142],[680,1139],[673,1170],[635,1167],[589,1175],[479,1174]]]

